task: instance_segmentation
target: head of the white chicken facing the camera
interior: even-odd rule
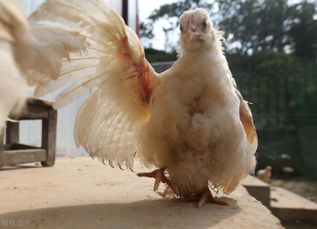
[[[203,8],[185,11],[179,18],[179,29],[182,49],[195,51],[211,46],[217,39],[209,14]]]

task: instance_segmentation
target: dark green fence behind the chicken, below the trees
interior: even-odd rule
[[[291,166],[317,177],[317,64],[291,56],[227,56],[259,137],[258,169]],[[153,63],[157,72],[173,62]]]

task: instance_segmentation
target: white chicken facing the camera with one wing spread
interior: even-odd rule
[[[87,55],[71,55],[58,81],[76,82],[56,97],[57,108],[90,89],[74,127],[77,146],[92,157],[133,169],[134,158],[158,169],[140,177],[166,183],[163,195],[227,205],[212,188],[230,193],[254,171],[258,138],[249,106],[235,88],[222,51],[222,33],[206,10],[180,17],[179,59],[157,74],[136,34],[100,0],[51,0],[31,17],[81,31]],[[56,89],[47,81],[41,95]]]

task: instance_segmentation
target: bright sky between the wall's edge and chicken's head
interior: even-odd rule
[[[148,16],[150,16],[151,12],[156,8],[159,8],[160,5],[166,3],[172,3],[176,0],[139,0],[139,19],[140,21],[144,21]],[[153,34],[155,35],[154,39],[152,40],[153,48],[156,49],[164,49],[165,44],[165,35],[162,30],[164,26],[168,27],[169,23],[166,20],[159,20],[153,30]],[[178,38],[175,38],[178,39]],[[143,40],[141,40],[143,41]],[[144,41],[143,41],[144,42]],[[144,44],[146,45],[146,44]]]

